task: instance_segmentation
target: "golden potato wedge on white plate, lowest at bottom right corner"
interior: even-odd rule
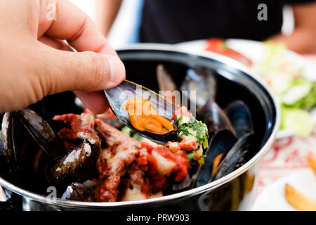
[[[316,211],[316,200],[312,200],[289,184],[285,185],[287,202],[298,211]]]

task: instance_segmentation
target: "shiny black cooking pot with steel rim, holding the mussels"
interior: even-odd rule
[[[0,155],[0,185],[6,193],[3,207],[22,210],[124,210],[163,207],[164,210],[247,210],[256,192],[258,160],[267,152],[279,129],[279,110],[270,91],[249,69],[235,60],[214,53],[195,55],[169,45],[138,44],[118,51],[126,66],[126,79],[158,91],[157,65],[168,68],[173,80],[181,84],[188,68],[208,68],[216,75],[216,102],[221,107],[235,100],[248,105],[254,123],[252,157],[234,172],[204,186],[148,200],[119,203],[86,203],[51,200],[11,184],[8,165]],[[198,96],[197,96],[198,97]],[[48,96],[30,108],[45,118],[63,113],[81,113],[72,93]],[[1,198],[0,198],[1,199]],[[6,205],[5,205],[6,204]]]

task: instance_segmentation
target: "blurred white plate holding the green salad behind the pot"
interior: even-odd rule
[[[259,63],[265,57],[265,46],[260,41],[251,41],[244,39],[227,39],[225,44],[228,48],[242,53],[247,58],[250,58],[254,63]],[[180,50],[190,51],[191,53],[201,53],[206,49],[206,40],[187,41],[176,45]],[[305,58],[294,53],[293,51],[287,51],[287,56],[294,61],[296,65],[304,68],[303,76],[310,81],[316,81],[316,68],[312,63],[309,63]],[[315,110],[314,110],[315,111]],[[316,112],[311,113],[312,120],[316,124]],[[282,139],[288,136],[294,135],[291,130],[279,130],[277,132],[277,139]]]

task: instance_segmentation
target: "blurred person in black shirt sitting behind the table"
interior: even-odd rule
[[[121,0],[96,0],[97,24],[107,36]],[[140,42],[176,44],[197,39],[236,38],[282,41],[299,53],[316,52],[315,0],[142,0]],[[265,4],[266,20],[258,13]],[[285,5],[294,12],[294,32],[281,33]]]

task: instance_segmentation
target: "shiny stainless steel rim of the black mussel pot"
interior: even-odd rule
[[[245,172],[249,167],[254,165],[258,160],[260,160],[263,155],[269,150],[270,146],[272,146],[272,143],[275,139],[275,136],[277,134],[277,131],[279,129],[280,124],[280,109],[279,104],[277,103],[275,97],[273,96],[272,92],[270,91],[270,88],[263,82],[261,77],[258,77],[258,75],[255,75],[254,72],[252,72],[249,68],[246,68],[246,66],[242,65],[241,63],[238,63],[235,60],[232,60],[231,58],[228,58],[226,56],[221,56],[217,53],[211,53],[211,52],[204,52],[204,53],[196,53],[194,51],[183,51],[178,49],[176,46],[172,46],[169,44],[133,44],[130,46],[126,46],[122,49],[118,50],[147,50],[147,51],[173,51],[177,53],[185,53],[189,55],[195,55],[195,56],[202,56],[204,58],[212,58],[215,60],[220,61],[221,63],[226,63],[234,68],[237,68],[238,70],[242,70],[242,72],[245,72],[247,75],[253,77],[256,79],[256,81],[263,86],[263,88],[270,94],[270,98],[272,99],[272,102],[275,105],[276,108],[276,118],[275,118],[275,126],[272,128],[272,133],[268,140],[265,142],[265,144],[262,146],[261,150],[258,151],[256,155],[254,155],[251,160],[246,162],[242,167],[239,169],[236,169],[234,172],[223,176],[222,178],[213,181],[209,184],[205,184],[204,186],[200,186],[198,188],[194,188],[188,191],[183,191],[180,193],[175,193],[172,195],[166,195],[159,198],[151,198],[147,200],[133,200],[133,201],[126,201],[126,202],[115,202],[115,203],[89,203],[89,202],[78,202],[78,201],[72,201],[72,200],[62,200],[60,198],[48,198],[45,195],[39,195],[37,193],[32,193],[30,191],[26,191],[18,186],[15,186],[5,179],[0,177],[0,185],[4,186],[4,188],[8,188],[9,190],[13,191],[14,193],[17,193],[19,195],[22,195],[27,198],[31,198],[32,200],[38,201],[40,203],[45,203],[48,205],[55,205],[60,207],[82,207],[82,208],[108,208],[109,210],[113,210],[116,208],[121,207],[136,207],[140,205],[148,205],[152,203],[162,203],[169,200],[180,200],[181,198],[188,198],[194,195],[198,195],[199,193],[203,193],[205,191],[213,191],[215,188],[218,188],[218,186],[221,186],[222,184],[227,183],[228,181],[231,181],[232,179],[235,179],[237,176]]]

